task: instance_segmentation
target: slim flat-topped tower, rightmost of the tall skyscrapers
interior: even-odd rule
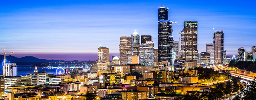
[[[213,32],[214,64],[222,64],[224,50],[224,33],[222,30]]]

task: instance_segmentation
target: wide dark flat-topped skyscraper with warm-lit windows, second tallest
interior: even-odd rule
[[[181,31],[181,58],[190,58],[192,61],[198,60],[197,26],[198,22],[184,22],[184,29]]]

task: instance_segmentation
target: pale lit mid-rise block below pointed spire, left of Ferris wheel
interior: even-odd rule
[[[27,76],[31,78],[31,85],[46,84],[46,72],[27,73]]]

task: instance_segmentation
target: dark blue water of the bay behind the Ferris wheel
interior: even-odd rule
[[[18,68],[18,75],[26,76],[29,72],[34,72],[35,68],[31,67],[32,65],[17,65]],[[48,68],[37,68],[38,72],[46,71],[47,73],[56,74],[56,69],[48,69]],[[0,74],[3,74],[1,70]]]

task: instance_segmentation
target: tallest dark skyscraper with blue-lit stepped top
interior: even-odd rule
[[[173,36],[172,22],[168,20],[169,9],[158,8],[158,62],[167,61],[173,66]]]

